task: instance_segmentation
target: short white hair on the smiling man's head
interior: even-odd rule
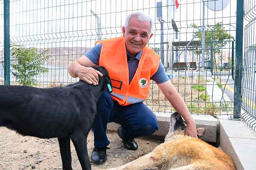
[[[147,15],[146,13],[143,12],[132,12],[130,13],[124,23],[124,28],[125,30],[128,27],[129,21],[132,17],[136,17],[139,21],[146,21],[150,23],[150,32],[149,34],[151,34],[152,30],[153,30],[153,20],[151,18],[151,16]]]

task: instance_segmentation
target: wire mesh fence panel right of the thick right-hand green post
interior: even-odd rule
[[[242,82],[242,119],[256,130],[256,2],[244,1],[244,72]]]

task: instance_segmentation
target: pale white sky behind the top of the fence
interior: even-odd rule
[[[101,18],[101,39],[120,36],[125,18],[132,11],[143,11],[153,18],[153,34],[150,44],[159,47],[161,23],[156,18],[156,4],[161,0],[12,0],[10,4],[10,35],[14,42],[24,45],[48,46],[94,46],[97,40],[97,20],[90,12]],[[195,35],[191,24],[202,26],[203,3],[201,0],[162,0],[163,42],[190,41]],[[211,3],[214,0],[209,0]],[[219,1],[219,0],[217,0]],[[0,30],[3,30],[3,1],[0,1]],[[171,25],[174,19],[178,30],[175,39]],[[205,6],[205,25],[222,22],[225,29],[235,36],[236,0],[230,0],[222,11],[212,11]],[[246,20],[245,20],[246,22]],[[0,31],[0,43],[3,31]],[[78,43],[79,41],[79,43]],[[0,45],[1,46],[1,45]]]

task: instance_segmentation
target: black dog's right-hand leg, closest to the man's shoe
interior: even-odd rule
[[[75,131],[71,134],[71,140],[75,146],[82,170],[91,170],[91,163],[87,151],[87,136],[82,131]]]

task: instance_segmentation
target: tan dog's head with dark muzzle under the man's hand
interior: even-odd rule
[[[179,115],[178,112],[174,112],[170,116],[170,129],[168,134],[165,136],[165,142],[180,138],[185,135],[187,124],[185,120]],[[205,132],[205,128],[197,128],[197,136],[202,137]]]

